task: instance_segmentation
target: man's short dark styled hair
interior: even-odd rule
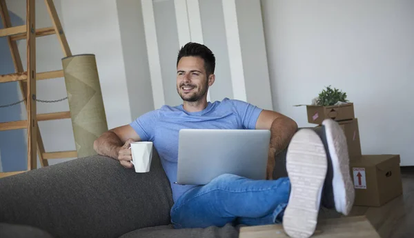
[[[214,74],[215,56],[207,46],[195,42],[186,43],[186,45],[181,47],[181,49],[178,52],[177,66],[181,57],[188,56],[200,57],[201,59],[204,59],[204,68],[206,70],[207,77],[211,74]]]

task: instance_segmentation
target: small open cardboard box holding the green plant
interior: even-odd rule
[[[322,124],[324,119],[331,118],[335,121],[353,119],[355,117],[353,103],[338,106],[313,106],[306,105],[308,122]]]

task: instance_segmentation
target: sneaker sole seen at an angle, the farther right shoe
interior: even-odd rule
[[[339,124],[332,119],[322,122],[333,168],[333,197],[337,212],[348,215],[355,199],[353,180],[349,170],[349,155],[346,137]]]

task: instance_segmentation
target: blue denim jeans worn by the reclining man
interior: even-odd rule
[[[171,208],[171,222],[174,228],[282,223],[289,195],[288,177],[252,180],[220,175],[181,195]]]

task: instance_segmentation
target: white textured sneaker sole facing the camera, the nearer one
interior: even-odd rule
[[[324,144],[316,132],[302,129],[293,136],[286,155],[286,169],[291,189],[284,211],[284,230],[289,237],[311,237],[317,225],[328,169]]]

